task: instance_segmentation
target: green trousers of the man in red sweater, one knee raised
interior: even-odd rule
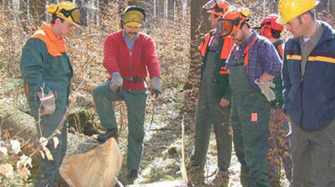
[[[128,114],[128,152],[127,168],[138,169],[143,150],[144,115],[147,96],[146,89],[126,90],[114,93],[109,89],[109,81],[103,82],[93,90],[93,98],[101,124],[105,128],[115,128],[116,120],[113,100],[124,100]]]

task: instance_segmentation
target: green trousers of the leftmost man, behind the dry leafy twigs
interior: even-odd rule
[[[35,120],[38,120],[38,112],[36,109],[32,109],[32,115],[34,116]],[[61,120],[63,119],[65,114],[65,110],[59,111],[55,110],[55,112],[51,115],[43,115],[40,117],[40,128],[38,124],[36,125],[38,137],[49,137],[55,129],[59,126]],[[60,129],[60,134],[56,134],[55,137],[58,138],[59,144],[56,148],[54,148],[52,138],[47,143],[47,148],[50,150],[53,160],[48,160],[45,158],[41,158],[37,176],[34,177],[34,186],[56,186],[59,184],[59,166],[65,156],[66,146],[67,146],[67,136],[66,136],[66,127],[67,121],[64,120],[62,127]],[[40,129],[42,134],[40,134]]]

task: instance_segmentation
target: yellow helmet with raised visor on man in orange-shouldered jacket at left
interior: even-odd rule
[[[73,25],[86,25],[86,14],[83,8],[70,1],[60,1],[59,4],[49,4],[47,11],[56,14]]]

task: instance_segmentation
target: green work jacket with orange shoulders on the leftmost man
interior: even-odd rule
[[[32,109],[40,105],[36,92],[41,89],[45,94],[53,92],[56,110],[66,109],[73,70],[62,37],[56,37],[46,24],[43,23],[26,41],[20,70]]]

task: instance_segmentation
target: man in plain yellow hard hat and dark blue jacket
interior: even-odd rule
[[[284,110],[292,123],[292,186],[335,186],[335,32],[315,19],[319,0],[280,0],[292,36],[283,55]]]

